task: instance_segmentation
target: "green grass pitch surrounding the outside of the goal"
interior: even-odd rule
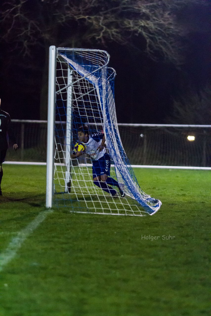
[[[3,171],[0,316],[209,315],[209,171],[135,169],[146,217],[49,211],[44,166]]]

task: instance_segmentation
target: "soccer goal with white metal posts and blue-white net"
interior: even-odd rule
[[[153,215],[161,202],[141,189],[122,146],[115,112],[115,70],[108,63],[106,51],[49,48],[46,207]],[[81,125],[92,136],[104,133],[104,147],[111,158],[110,177],[118,182],[125,197],[113,197],[94,184],[92,160],[86,153],[71,159]]]

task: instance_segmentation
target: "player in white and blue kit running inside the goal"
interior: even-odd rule
[[[110,155],[105,149],[105,136],[103,132],[96,132],[93,135],[89,135],[89,129],[86,126],[78,128],[78,140],[80,143],[86,146],[86,150],[83,149],[72,153],[71,159],[76,159],[83,155],[85,152],[92,161],[92,174],[94,184],[101,188],[103,191],[110,193],[113,197],[121,195],[125,196],[125,193],[121,190],[119,183],[109,177],[111,160]],[[117,186],[119,189],[118,193],[110,185]]]

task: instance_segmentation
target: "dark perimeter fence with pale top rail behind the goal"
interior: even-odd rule
[[[56,124],[63,134],[66,123]],[[12,126],[19,150],[9,149],[5,163],[45,164],[47,121],[13,119]],[[118,124],[118,128],[133,167],[211,169],[211,125]]]

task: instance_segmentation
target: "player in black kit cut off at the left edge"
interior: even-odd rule
[[[1,106],[1,99],[0,99]],[[16,144],[16,139],[11,127],[11,119],[7,112],[4,112],[0,109],[0,195],[1,191],[1,182],[3,177],[2,163],[6,157],[7,149],[9,147],[9,141],[13,144],[13,149],[17,150],[18,145]]]

